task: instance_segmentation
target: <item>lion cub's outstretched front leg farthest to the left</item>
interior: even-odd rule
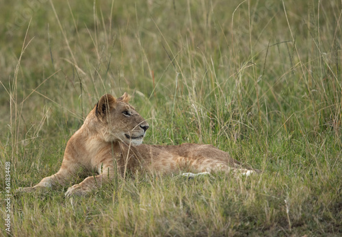
[[[33,187],[18,188],[19,192],[32,192],[42,188],[52,188],[54,186],[66,186],[80,171],[81,166],[78,163],[70,161],[72,159],[64,155],[64,160],[60,171],[49,177],[44,177],[38,184]]]

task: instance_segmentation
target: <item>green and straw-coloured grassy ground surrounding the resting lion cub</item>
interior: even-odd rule
[[[106,92],[133,95],[146,143],[263,171],[12,196],[12,236],[342,235],[341,1],[0,2],[1,219],[5,162],[12,194],[55,173]]]

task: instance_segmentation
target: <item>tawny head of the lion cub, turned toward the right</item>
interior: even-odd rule
[[[140,145],[148,129],[148,123],[129,105],[129,95],[124,93],[116,99],[103,95],[88,114],[85,125],[89,124],[106,142],[122,141]]]

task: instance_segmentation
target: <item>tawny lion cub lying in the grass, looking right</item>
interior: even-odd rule
[[[98,175],[71,186],[66,196],[86,195],[109,182],[116,172],[123,176],[126,171],[159,174],[187,170],[205,173],[226,171],[244,175],[254,172],[241,168],[228,153],[212,145],[142,145],[148,123],[128,102],[126,93],[118,99],[103,95],[81,128],[68,140],[60,171],[44,177],[36,186],[19,190],[31,192],[38,188],[66,186],[80,171]]]

